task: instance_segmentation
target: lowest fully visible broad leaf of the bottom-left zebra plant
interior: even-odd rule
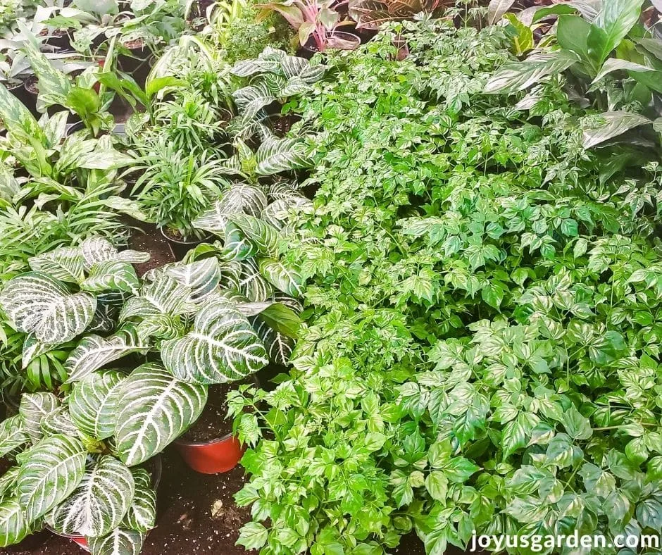
[[[105,536],[117,528],[135,495],[131,470],[115,457],[99,457],[73,493],[51,513],[51,525],[61,534]]]

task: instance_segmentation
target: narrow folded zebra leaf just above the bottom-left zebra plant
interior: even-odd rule
[[[86,335],[70,352],[64,363],[64,368],[69,375],[67,382],[81,380],[109,362],[142,349],[144,347],[138,339],[138,333],[133,324],[124,325],[110,337]]]

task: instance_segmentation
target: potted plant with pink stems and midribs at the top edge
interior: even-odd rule
[[[284,0],[259,4],[262,8],[258,20],[273,11],[280,13],[299,33],[302,49],[312,55],[328,48],[354,50],[361,39],[342,27],[354,25],[354,21],[343,20],[337,7],[343,4],[337,0]]]

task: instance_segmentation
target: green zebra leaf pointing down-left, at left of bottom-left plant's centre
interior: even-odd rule
[[[30,449],[22,462],[16,491],[29,522],[64,501],[85,474],[87,451],[80,439],[51,435]]]

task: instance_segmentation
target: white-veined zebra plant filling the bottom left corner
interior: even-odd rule
[[[156,492],[143,465],[199,417],[204,385],[156,364],[89,373],[66,399],[24,394],[0,425],[0,546],[46,523],[87,537],[93,554],[138,554],[154,527]],[[121,546],[121,547],[118,547]]]

